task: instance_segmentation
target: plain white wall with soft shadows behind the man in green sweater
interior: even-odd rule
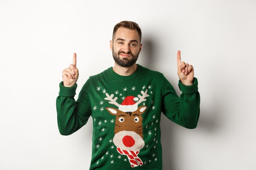
[[[0,0],[0,170],[89,169],[92,119],[59,134],[58,84],[74,52],[77,93],[113,66],[109,40],[122,20],[141,27],[138,64],[180,95],[181,50],[198,78],[198,127],[162,115],[164,170],[256,170],[255,0]]]

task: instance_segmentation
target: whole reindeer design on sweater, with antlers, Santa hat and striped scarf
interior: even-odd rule
[[[117,151],[121,155],[126,155],[129,159],[131,167],[142,166],[143,162],[138,157],[139,150],[141,150],[145,143],[143,140],[142,130],[142,114],[145,113],[147,106],[139,106],[141,102],[146,101],[148,90],[141,91],[142,95],[138,97],[127,96],[121,104],[117,103],[117,97],[113,94],[106,93],[105,100],[109,100],[110,104],[114,104],[118,108],[106,108],[115,119],[115,136],[113,143],[117,146]]]

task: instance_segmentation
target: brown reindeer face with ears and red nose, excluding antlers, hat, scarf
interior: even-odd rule
[[[140,150],[144,147],[142,114],[147,106],[140,106],[134,112],[123,112],[117,108],[106,108],[116,116],[114,144],[125,150]]]

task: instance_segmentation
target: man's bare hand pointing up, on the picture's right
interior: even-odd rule
[[[177,51],[177,67],[178,67],[178,76],[182,84],[190,86],[193,84],[194,79],[194,68],[188,63],[181,62],[180,50]]]

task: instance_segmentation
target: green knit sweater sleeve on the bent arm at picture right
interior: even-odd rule
[[[200,115],[200,95],[198,80],[194,77],[191,86],[185,86],[179,81],[182,94],[177,96],[173,86],[164,77],[162,112],[168,119],[185,128],[196,128]]]

